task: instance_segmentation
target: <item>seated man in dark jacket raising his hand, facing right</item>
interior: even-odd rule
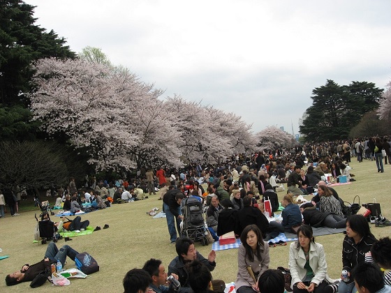
[[[187,237],[178,238],[175,242],[175,249],[177,250],[178,256],[175,257],[170,265],[168,266],[168,274],[175,273],[179,277],[179,282],[182,287],[190,287],[189,284],[189,271],[186,269],[186,264],[198,260],[207,266],[209,271],[213,271],[216,267],[216,252],[212,250],[208,258],[205,259],[197,250],[195,250],[193,240]]]

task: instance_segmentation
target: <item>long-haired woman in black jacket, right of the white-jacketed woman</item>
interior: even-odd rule
[[[348,280],[339,283],[339,293],[354,292],[354,274],[352,270],[357,264],[364,262],[365,253],[371,250],[372,244],[376,242],[375,236],[369,229],[366,218],[361,215],[350,216],[346,220],[346,236],[342,245],[343,270],[348,272]]]

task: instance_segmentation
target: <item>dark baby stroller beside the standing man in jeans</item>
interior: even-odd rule
[[[207,227],[205,226],[202,202],[195,197],[186,197],[182,200],[182,236],[188,236],[193,241],[201,241],[202,246],[209,244]]]

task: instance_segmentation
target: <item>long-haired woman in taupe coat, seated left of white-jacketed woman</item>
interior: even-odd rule
[[[269,245],[256,225],[246,226],[240,240],[235,287],[238,293],[253,293],[258,290],[259,277],[269,269]]]

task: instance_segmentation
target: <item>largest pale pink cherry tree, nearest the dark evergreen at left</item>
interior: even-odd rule
[[[105,64],[80,59],[42,59],[35,68],[31,109],[43,130],[53,137],[66,135],[75,147],[87,149],[89,163],[96,170],[138,165],[141,151],[135,149],[145,144],[147,133],[153,133],[150,127],[140,127],[148,125],[142,113],[156,107],[161,91],[140,82],[128,70],[111,70]],[[154,119],[155,123],[163,120],[156,115]],[[176,158],[172,165],[177,164],[178,152],[172,145],[164,146],[161,149],[171,148],[170,156]]]

